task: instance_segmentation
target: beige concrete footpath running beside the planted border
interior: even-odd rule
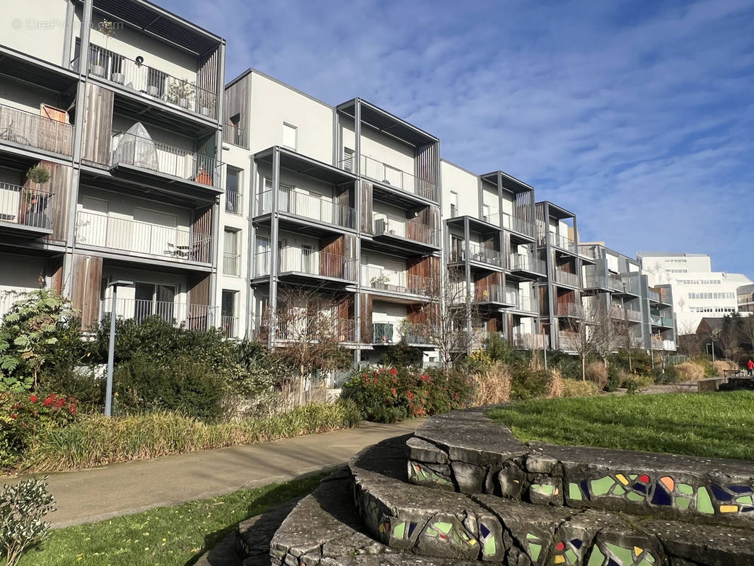
[[[51,474],[57,511],[48,521],[66,527],[286,481],[345,463],[370,444],[414,432],[421,422],[362,423],[320,435]],[[16,481],[0,477],[0,483]]]

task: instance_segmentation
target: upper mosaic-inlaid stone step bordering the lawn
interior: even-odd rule
[[[523,444],[481,410],[432,417],[407,445],[409,480],[415,484],[754,528],[750,462]]]

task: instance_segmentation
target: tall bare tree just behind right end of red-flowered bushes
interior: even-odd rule
[[[473,296],[467,294],[466,278],[460,270],[448,270],[431,278],[425,311],[427,340],[437,348],[443,368],[453,365],[474,344],[474,334],[467,331],[478,318]]]

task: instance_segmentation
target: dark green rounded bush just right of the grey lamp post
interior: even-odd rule
[[[176,411],[206,422],[225,416],[225,380],[185,355],[167,365],[144,355],[130,358],[115,369],[113,390],[121,411]]]

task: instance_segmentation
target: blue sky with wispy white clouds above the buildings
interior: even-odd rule
[[[754,279],[754,2],[157,0],[249,67],[362,97],[575,212],[581,241]]]

